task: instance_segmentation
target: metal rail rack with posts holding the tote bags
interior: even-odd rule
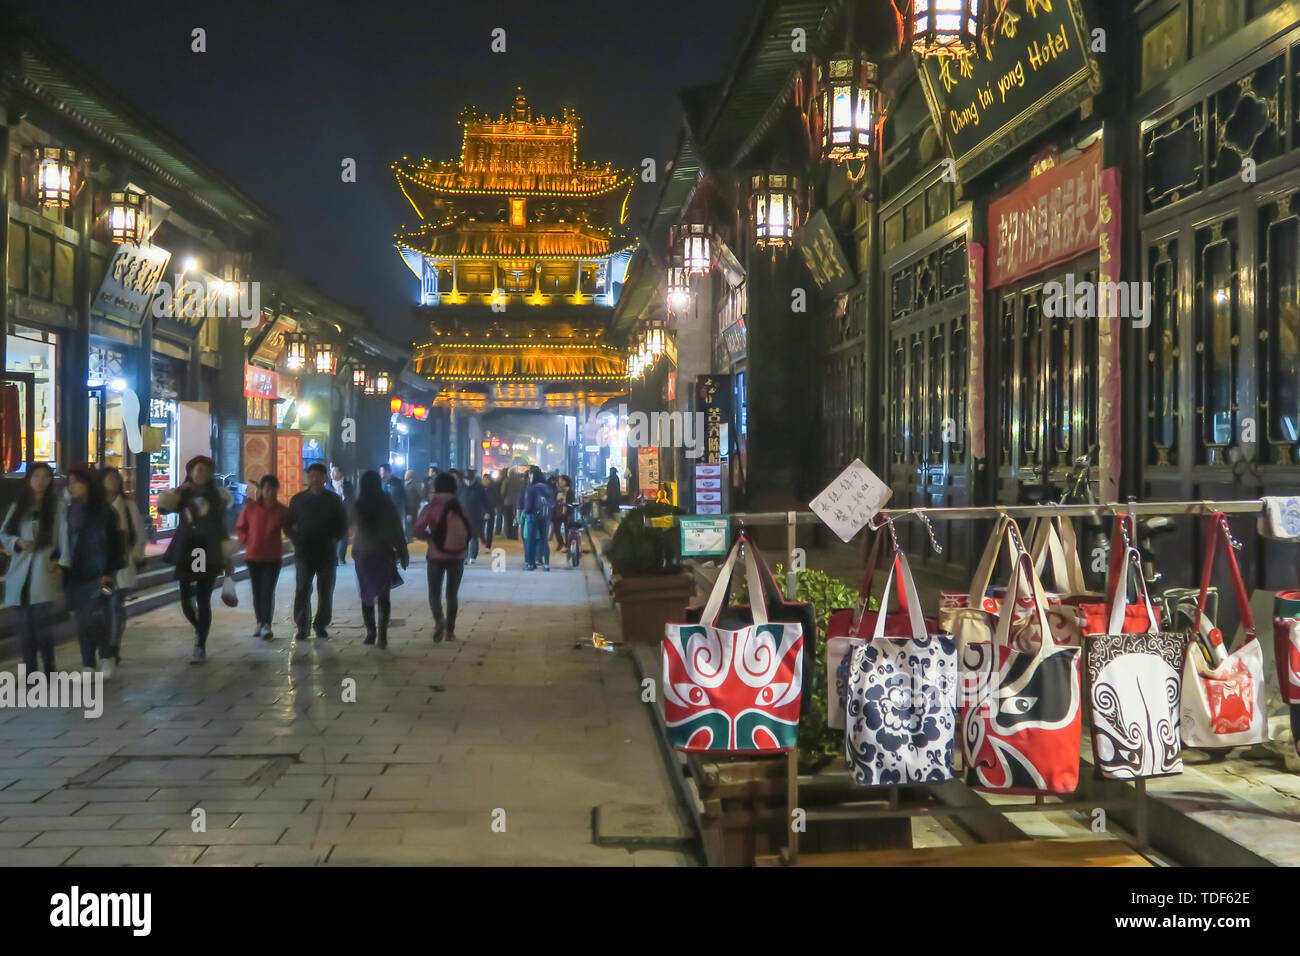
[[[1070,503],[1070,505],[992,505],[976,507],[916,507],[900,510],[881,510],[876,518],[898,522],[904,518],[918,518],[923,520],[931,531],[931,541],[935,542],[931,519],[939,520],[979,520],[997,519],[1002,515],[1008,518],[1088,518],[1088,516],[1114,516],[1114,515],[1209,515],[1216,511],[1223,514],[1257,514],[1262,511],[1264,501],[1164,501],[1164,502],[1127,502],[1110,503]],[[822,519],[812,511],[760,511],[751,514],[720,515],[731,518],[738,528],[785,525],[786,527],[786,553],[793,553],[797,546],[796,532],[800,524],[820,524]],[[654,522],[658,527],[664,527],[668,516],[646,519],[647,524]],[[888,520],[872,519],[867,527],[880,529]],[[671,518],[671,525],[677,524],[677,516]],[[671,527],[670,525],[670,527]],[[935,542],[937,545],[937,542]],[[797,572],[786,571],[785,596],[788,600],[796,598]],[[762,756],[762,754],[755,754]],[[785,760],[785,800],[786,800],[786,845],[781,852],[781,861],[785,865],[796,865],[800,858],[798,831],[793,826],[794,814],[800,809],[800,783],[798,783],[798,748],[781,754],[772,754],[774,758]],[[1134,795],[1128,800],[1078,800],[1054,799],[1036,796],[1032,803],[984,804],[979,806],[904,806],[900,795],[904,790],[924,790],[924,784],[900,784],[893,787],[864,788],[863,793],[884,790],[884,796],[872,799],[866,796],[862,804],[841,808],[824,808],[803,810],[803,819],[815,821],[859,821],[859,819],[888,819],[902,817],[967,817],[967,816],[1006,816],[1015,813],[1057,813],[1071,810],[1095,810],[1127,808],[1134,813],[1134,845],[1139,853],[1147,853],[1149,845],[1149,806],[1147,797],[1147,779],[1139,777],[1134,780]]]

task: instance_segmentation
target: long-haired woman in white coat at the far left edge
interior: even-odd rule
[[[46,674],[55,670],[51,627],[43,622],[39,633],[36,630],[36,622],[47,617],[53,602],[64,594],[58,542],[64,540],[68,509],[53,485],[55,472],[48,464],[31,466],[27,486],[0,523],[0,545],[9,553],[4,602],[22,609],[20,646],[29,674],[36,670],[38,652]]]

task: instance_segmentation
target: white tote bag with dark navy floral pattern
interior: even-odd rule
[[[907,596],[907,637],[885,637],[889,585]],[[845,753],[855,783],[941,783],[953,777],[957,731],[957,641],[931,631],[902,551],[894,553],[871,640],[849,666]]]

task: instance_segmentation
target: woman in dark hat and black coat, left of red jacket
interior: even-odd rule
[[[208,631],[212,630],[212,591],[222,574],[230,574],[234,553],[226,535],[226,509],[230,493],[212,480],[216,464],[207,455],[185,463],[185,481],[159,496],[159,511],[179,515],[172,544],[164,559],[176,566],[181,584],[181,613],[194,627],[191,663],[208,657]]]

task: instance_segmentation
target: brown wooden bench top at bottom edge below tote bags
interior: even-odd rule
[[[775,856],[755,860],[780,866]],[[800,866],[1150,866],[1122,840],[1015,840],[922,849],[801,853]]]

